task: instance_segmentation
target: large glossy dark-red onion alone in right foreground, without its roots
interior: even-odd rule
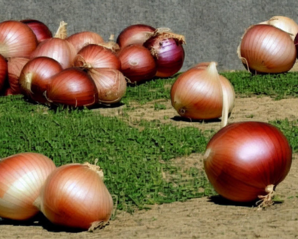
[[[219,130],[209,141],[204,168],[215,191],[236,202],[250,202],[277,186],[291,168],[286,137],[264,122],[238,122]]]

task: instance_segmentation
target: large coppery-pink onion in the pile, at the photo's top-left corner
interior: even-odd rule
[[[0,23],[0,54],[5,58],[27,58],[36,46],[36,36],[26,24],[13,20]]]

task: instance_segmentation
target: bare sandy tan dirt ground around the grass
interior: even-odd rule
[[[154,103],[133,105],[134,110],[101,108],[104,115],[116,115],[131,124],[140,119],[158,119],[178,126],[201,129],[220,128],[219,121],[200,122],[178,117],[170,101],[158,101],[162,110],[154,110]],[[275,101],[270,97],[236,98],[229,122],[298,119],[298,99]],[[128,116],[127,116],[128,114]],[[124,116],[125,115],[125,116]],[[275,203],[263,211],[251,204],[236,204],[215,196],[186,202],[153,205],[150,210],[133,215],[117,211],[115,220],[104,229],[94,232],[66,231],[51,226],[42,216],[28,223],[0,220],[0,238],[298,238],[298,155],[288,176],[276,188],[282,203]],[[203,168],[202,155],[192,154],[173,160],[183,167]]]

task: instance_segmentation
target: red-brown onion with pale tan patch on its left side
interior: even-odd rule
[[[50,77],[62,70],[59,62],[52,58],[39,56],[31,59],[20,73],[21,91],[36,102],[46,103],[44,91],[50,83]]]

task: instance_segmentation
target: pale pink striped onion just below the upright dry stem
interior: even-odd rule
[[[72,67],[72,61],[76,51],[72,44],[64,39],[53,37],[45,39],[38,44],[37,48],[30,55],[30,59],[38,56],[47,56],[58,61],[63,69]]]

